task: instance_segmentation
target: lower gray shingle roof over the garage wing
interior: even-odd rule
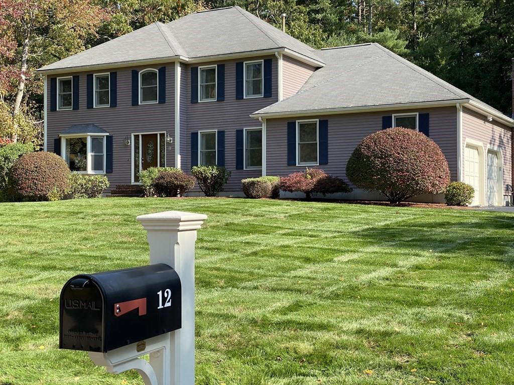
[[[325,67],[316,70],[295,95],[254,114],[463,99],[492,108],[376,43],[316,53]]]

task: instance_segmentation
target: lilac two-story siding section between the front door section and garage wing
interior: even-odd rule
[[[235,63],[257,59],[272,59],[271,98],[235,99]],[[181,81],[185,85],[182,91],[181,103],[186,108],[187,128],[181,135],[182,169],[190,169],[191,132],[200,130],[225,130],[225,167],[232,171],[225,191],[241,191],[241,179],[259,177],[261,170],[235,169],[235,130],[238,128],[261,127],[261,123],[249,117],[252,112],[276,103],[277,96],[277,60],[275,56],[248,57],[240,60],[217,61],[201,63],[201,66],[225,64],[225,101],[191,103],[191,67],[198,64],[188,64],[182,71]],[[182,127],[181,127],[182,128]],[[183,129],[181,129],[183,132]],[[183,151],[182,151],[183,148]],[[195,190],[196,191],[196,190]]]

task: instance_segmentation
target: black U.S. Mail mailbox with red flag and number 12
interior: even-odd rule
[[[59,348],[108,352],[181,328],[181,286],[164,263],[71,278],[61,291]]]

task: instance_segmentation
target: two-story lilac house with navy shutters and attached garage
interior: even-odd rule
[[[315,50],[239,7],[154,23],[38,71],[45,149],[112,186],[197,164],[228,168],[233,195],[243,178],[305,167],[345,178],[365,136],[401,126],[442,148],[473,204],[510,194],[512,119],[378,44]]]

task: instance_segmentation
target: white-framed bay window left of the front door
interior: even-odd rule
[[[64,160],[71,171],[87,174],[105,172],[105,137],[63,137]]]

